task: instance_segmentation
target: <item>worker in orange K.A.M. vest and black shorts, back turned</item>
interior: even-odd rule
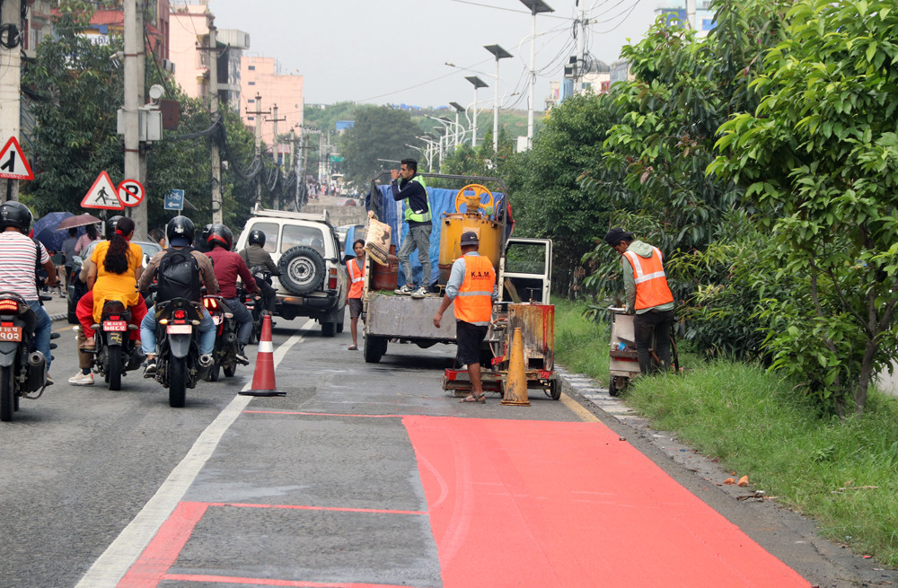
[[[452,273],[446,282],[446,294],[440,310],[434,315],[434,326],[439,329],[443,313],[455,301],[455,339],[458,343],[458,363],[468,366],[471,377],[471,394],[460,402],[487,401],[480,382],[480,343],[487,337],[489,320],[493,314],[493,301],[497,299],[496,270],[489,258],[477,252],[480,240],[477,233],[466,231],[459,241],[462,257],[455,259]],[[457,298],[457,300],[456,300]]]

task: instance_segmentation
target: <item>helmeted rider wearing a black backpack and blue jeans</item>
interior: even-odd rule
[[[163,303],[173,297],[189,298],[194,302],[202,302],[200,281],[206,284],[208,294],[218,294],[218,280],[212,268],[212,262],[202,253],[194,250],[191,245],[196,228],[187,216],[175,216],[165,227],[165,236],[168,237],[170,247],[159,251],[150,259],[144,273],[140,276],[137,288],[144,294],[149,291],[153,280],[158,278],[158,290],[156,291],[156,303]],[[166,276],[166,269],[172,267],[173,259],[181,259],[185,253],[196,260],[194,266],[196,274],[190,284],[173,283]],[[171,257],[169,257],[171,256]],[[165,259],[168,257],[168,259]],[[189,259],[189,258],[187,258]],[[175,293],[175,294],[172,294]],[[212,352],[216,347],[216,323],[212,321],[212,315],[202,308],[203,320],[199,323],[199,364],[203,367],[211,367]],[[156,309],[155,306],[146,312],[144,320],[140,323],[140,340],[146,355],[146,369],[144,377],[151,378],[156,373]]]

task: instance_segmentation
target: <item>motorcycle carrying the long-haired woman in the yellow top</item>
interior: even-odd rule
[[[121,377],[136,370],[144,361],[144,352],[128,336],[137,325],[131,324],[131,312],[118,300],[103,304],[100,324],[93,325],[93,363],[98,373],[110,385],[110,390],[121,390]]]

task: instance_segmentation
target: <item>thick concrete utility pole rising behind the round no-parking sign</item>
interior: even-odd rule
[[[140,107],[145,102],[144,48],[144,2],[125,0],[125,178],[146,185],[146,159],[140,145]],[[147,235],[146,199],[129,212],[135,233]]]

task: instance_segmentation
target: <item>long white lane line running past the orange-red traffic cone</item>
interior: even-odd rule
[[[291,347],[303,340],[301,333],[305,329],[311,329],[313,324],[312,319],[307,320],[291,338],[277,347],[277,353],[274,355],[276,366],[284,359]],[[251,385],[252,381],[247,382],[243,386],[243,391],[250,390]],[[159,527],[172,515],[175,506],[197,478],[199,470],[202,470],[208,459],[212,457],[212,453],[216,451],[225,431],[237,420],[251,399],[251,396],[237,395],[231,400],[218,417],[199,435],[184,459],[172,470],[163,485],[156,490],[154,496],[137,513],[134,520],[129,522],[128,526],[119,533],[119,537],[112,541],[103,555],[93,562],[91,569],[87,570],[87,574],[84,575],[81,582],[76,584],[75,588],[115,588],[119,584],[131,566],[134,566],[140,554],[144,552],[150,540],[155,537]]]

